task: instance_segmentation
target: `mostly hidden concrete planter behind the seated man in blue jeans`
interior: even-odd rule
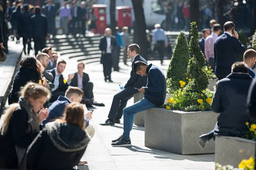
[[[134,94],[134,103],[139,102],[141,99],[143,99],[143,97],[144,97],[144,94],[140,94],[140,93]],[[167,102],[169,97],[170,97],[170,95],[166,94],[165,103]],[[139,113],[135,114],[134,125],[144,126],[144,124],[145,124],[145,112],[146,111],[139,112]]]

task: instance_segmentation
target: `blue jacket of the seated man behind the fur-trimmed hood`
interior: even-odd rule
[[[58,119],[63,116],[64,110],[66,105],[70,104],[71,102],[64,96],[59,96],[58,100],[52,103],[49,107],[48,112],[49,116],[41,123],[42,127],[45,127],[45,124],[48,122],[52,122],[55,119]],[[86,127],[89,125],[89,119],[84,116]]]

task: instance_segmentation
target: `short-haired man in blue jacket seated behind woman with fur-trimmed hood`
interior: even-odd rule
[[[55,119],[61,118],[63,116],[66,105],[68,105],[72,102],[80,103],[83,95],[84,95],[84,92],[80,88],[70,86],[67,89],[65,96],[59,96],[58,100],[53,102],[52,105],[49,107],[49,109],[48,109],[49,116],[47,117],[47,119],[45,119],[41,123],[41,126],[45,127],[45,124],[47,124],[48,122],[52,122]],[[91,111],[86,113],[84,116],[86,130],[92,138],[94,136],[95,130],[92,126],[89,126],[89,120],[91,118],[92,118]]]

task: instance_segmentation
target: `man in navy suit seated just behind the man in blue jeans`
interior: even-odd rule
[[[131,44],[128,46],[127,55],[133,59],[132,63],[136,61],[143,61],[147,63],[147,61],[140,56],[140,46],[137,44]],[[146,84],[147,76],[142,77],[138,74],[134,74],[133,69],[131,69],[130,79],[126,83],[124,89],[113,97],[113,102],[108,114],[108,119],[105,123],[100,125],[114,125],[115,123],[120,123],[120,119],[122,118],[123,114],[123,109],[126,107],[127,101],[138,92],[138,90],[136,90],[135,88],[140,89],[141,87],[144,87]]]

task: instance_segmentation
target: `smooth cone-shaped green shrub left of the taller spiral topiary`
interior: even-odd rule
[[[172,89],[178,89],[180,87],[179,81],[186,80],[189,58],[189,45],[187,43],[186,35],[181,31],[177,37],[177,42],[166,76],[167,80],[172,79]],[[166,83],[168,86],[169,82],[167,81]]]

